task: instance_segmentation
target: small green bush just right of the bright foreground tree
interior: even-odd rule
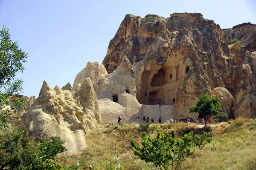
[[[212,141],[212,133],[206,133],[203,132],[202,135],[194,135],[193,143],[195,146],[198,146],[199,149],[201,150],[205,144],[210,143]]]

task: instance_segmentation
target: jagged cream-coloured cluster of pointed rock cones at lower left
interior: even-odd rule
[[[80,87],[85,89],[81,92]],[[87,78],[73,93],[59,86],[51,89],[44,81],[35,103],[23,114],[21,126],[26,126],[31,135],[59,136],[69,153],[77,153],[86,147],[85,133],[95,129],[97,121],[101,118],[96,93]]]

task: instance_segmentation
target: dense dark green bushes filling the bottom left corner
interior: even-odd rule
[[[59,170],[74,169],[55,162],[58,153],[65,151],[59,137],[29,137],[26,129],[0,131],[0,170]]]

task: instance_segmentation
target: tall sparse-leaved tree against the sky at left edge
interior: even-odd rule
[[[22,91],[23,81],[15,80],[15,75],[23,72],[22,63],[26,58],[25,51],[18,49],[17,41],[10,39],[9,29],[3,27],[0,31],[0,128],[6,127],[11,110],[25,105],[22,98],[10,101],[8,97]]]

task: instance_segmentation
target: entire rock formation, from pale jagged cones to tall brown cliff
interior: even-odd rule
[[[206,92],[230,118],[256,116],[255,24],[221,29],[200,13],[127,14],[103,64],[88,62],[73,87],[44,82],[22,124],[32,135],[60,136],[76,153],[86,146],[87,130],[118,115],[123,122],[143,115],[197,120],[189,107]]]

